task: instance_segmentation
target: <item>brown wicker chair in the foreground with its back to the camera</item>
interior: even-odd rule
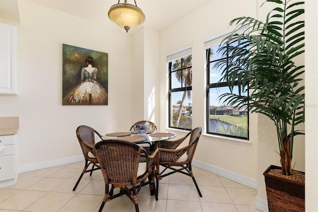
[[[106,202],[124,194],[135,204],[136,212],[139,212],[137,196],[148,177],[152,179],[149,183],[158,200],[155,167],[153,167],[158,150],[150,156],[141,146],[117,139],[100,141],[94,145],[93,150],[105,180],[105,195],[99,212]],[[146,163],[139,163],[141,154],[146,155]],[[112,185],[110,191],[109,185]],[[129,189],[128,186],[131,188]],[[113,195],[114,188],[120,188],[120,192],[116,195]]]

